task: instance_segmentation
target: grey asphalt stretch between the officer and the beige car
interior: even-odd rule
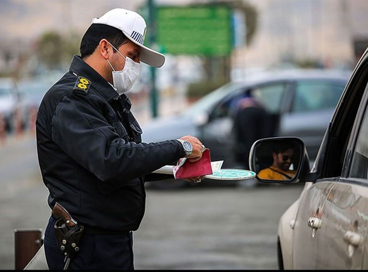
[[[148,192],[139,269],[276,269],[277,223],[302,187]]]

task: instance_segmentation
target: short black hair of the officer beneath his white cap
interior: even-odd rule
[[[128,38],[120,29],[104,24],[92,24],[86,33],[84,33],[81,40],[80,50],[82,59],[95,52],[96,47],[102,39],[108,40],[117,49],[128,42]],[[113,49],[113,52],[115,53],[116,51]]]

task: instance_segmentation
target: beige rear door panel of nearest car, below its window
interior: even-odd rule
[[[339,179],[323,205],[316,269],[362,269],[367,245],[368,187]],[[355,235],[359,245],[349,244]],[[350,236],[351,238],[349,239]]]

